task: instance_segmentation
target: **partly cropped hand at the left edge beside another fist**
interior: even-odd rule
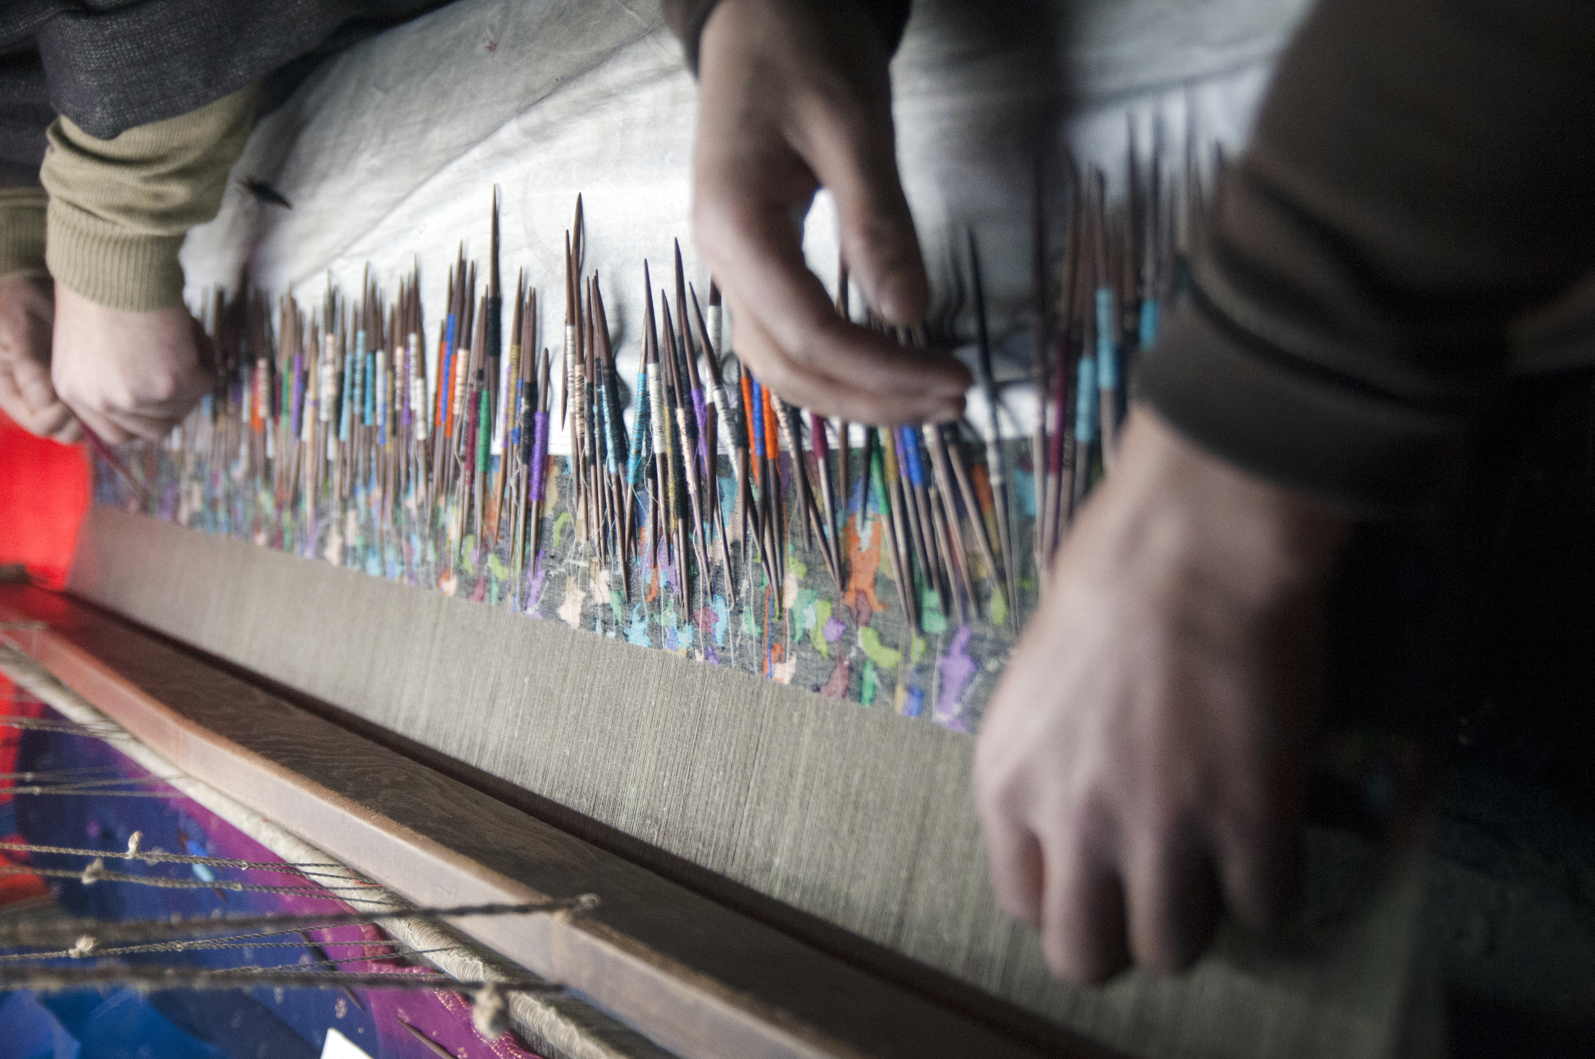
[[[78,421],[49,383],[54,301],[48,279],[0,285],[0,410],[30,434],[78,439]]]

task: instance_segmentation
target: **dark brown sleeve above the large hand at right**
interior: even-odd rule
[[[1327,0],[1142,396],[1349,510],[1440,496],[1506,383],[1595,364],[1592,54],[1585,0]]]

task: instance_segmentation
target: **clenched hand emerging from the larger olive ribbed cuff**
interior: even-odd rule
[[[211,340],[188,309],[123,313],[56,284],[56,392],[104,440],[160,440],[211,388]]]

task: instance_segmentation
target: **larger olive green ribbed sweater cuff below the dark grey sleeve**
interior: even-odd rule
[[[49,274],[89,301],[150,313],[183,298],[177,250],[215,217],[254,124],[257,86],[100,140],[49,126],[38,179],[49,193]]]

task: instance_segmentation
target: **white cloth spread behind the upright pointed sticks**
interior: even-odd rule
[[[1029,359],[1030,185],[1062,148],[1118,179],[1134,134],[1150,156],[1161,123],[1177,169],[1188,129],[1243,142],[1270,62],[1305,0],[920,0],[892,65],[898,163],[935,290],[931,319],[968,340],[963,230],[983,247],[998,376]],[[640,349],[643,260],[670,284],[679,238],[700,293],[689,225],[695,86],[648,0],[461,0],[322,65],[260,121],[215,222],[190,233],[190,300],[249,281],[319,306],[329,279],[359,292],[370,266],[389,292],[419,262],[431,341],[448,266],[464,242],[485,263],[493,185],[502,190],[504,282],[538,287],[539,344],[560,349],[563,247],[585,203],[622,378]],[[257,201],[258,179],[290,211]],[[1062,180],[1050,180],[1061,250]],[[834,284],[836,220],[821,193],[805,226],[813,270]],[[485,278],[485,270],[483,270]],[[1005,397],[1029,429],[1034,399]],[[970,418],[986,415],[971,394]],[[552,439],[561,451],[565,437]]]

